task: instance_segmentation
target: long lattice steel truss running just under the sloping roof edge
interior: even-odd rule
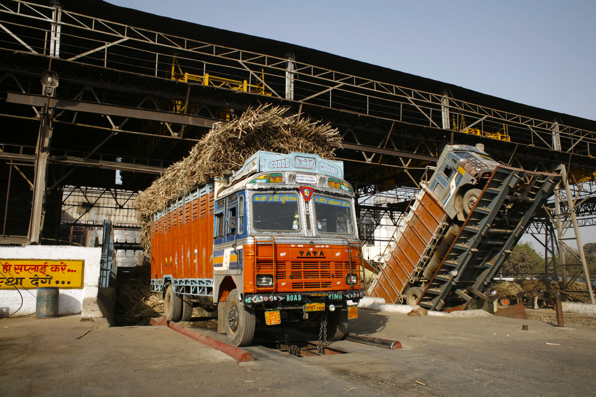
[[[66,54],[64,50],[60,53],[72,62],[100,67],[111,65],[113,70],[119,71],[134,67],[135,73],[141,70],[145,76],[157,77],[165,71],[165,68],[160,69],[160,62],[165,64],[166,58],[171,59],[172,54],[176,52],[179,54],[179,62],[193,71],[206,70],[206,68],[225,69],[232,77],[259,80],[276,98],[285,96],[280,93],[285,92],[287,58],[140,29],[68,10],[60,10],[60,20],[57,22],[55,12],[57,12],[55,8],[20,0],[13,0],[10,4],[3,5],[0,8],[0,14],[6,15],[3,18],[4,26],[7,29],[11,29],[12,26],[18,27],[18,33],[14,35],[21,40],[32,38],[27,44],[29,48],[18,40],[14,40],[13,44],[5,42],[1,46],[24,54],[48,54],[47,46],[51,43],[44,37],[51,35],[52,26],[58,24],[60,27],[69,27],[69,36],[74,42],[72,47],[79,48],[76,54]],[[35,20],[36,23],[27,23],[28,20]],[[61,33],[63,36],[65,34]],[[79,38],[83,36],[85,40]],[[136,66],[132,55],[128,57],[129,60],[123,55],[133,53],[138,57]],[[110,58],[113,60],[110,61]],[[151,62],[153,66],[150,66]],[[141,63],[146,65],[140,67]],[[261,71],[261,69],[266,70]],[[496,110],[457,98],[449,98],[443,93],[424,92],[392,85],[306,64],[299,60],[293,60],[292,73],[299,76],[299,79],[293,80],[294,102],[324,105],[327,108],[351,110],[362,115],[386,117],[394,121],[436,128],[439,125],[444,127],[445,114],[451,112],[451,115],[457,118],[455,121],[458,129],[464,127],[461,123],[462,117],[468,117],[468,123],[482,119],[480,123],[483,130],[498,130],[505,125],[510,129],[509,135],[514,140],[519,140],[521,144],[541,146],[545,149],[560,147],[563,152],[587,156],[593,151],[593,145],[596,143],[596,133],[592,131],[565,126],[560,121],[539,120]],[[265,78],[260,77],[260,74]]]

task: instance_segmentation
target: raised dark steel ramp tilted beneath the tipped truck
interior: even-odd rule
[[[418,305],[440,311],[474,304],[560,180],[560,174],[499,165]]]

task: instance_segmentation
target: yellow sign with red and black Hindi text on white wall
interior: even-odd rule
[[[82,288],[85,261],[0,259],[0,289]]]

